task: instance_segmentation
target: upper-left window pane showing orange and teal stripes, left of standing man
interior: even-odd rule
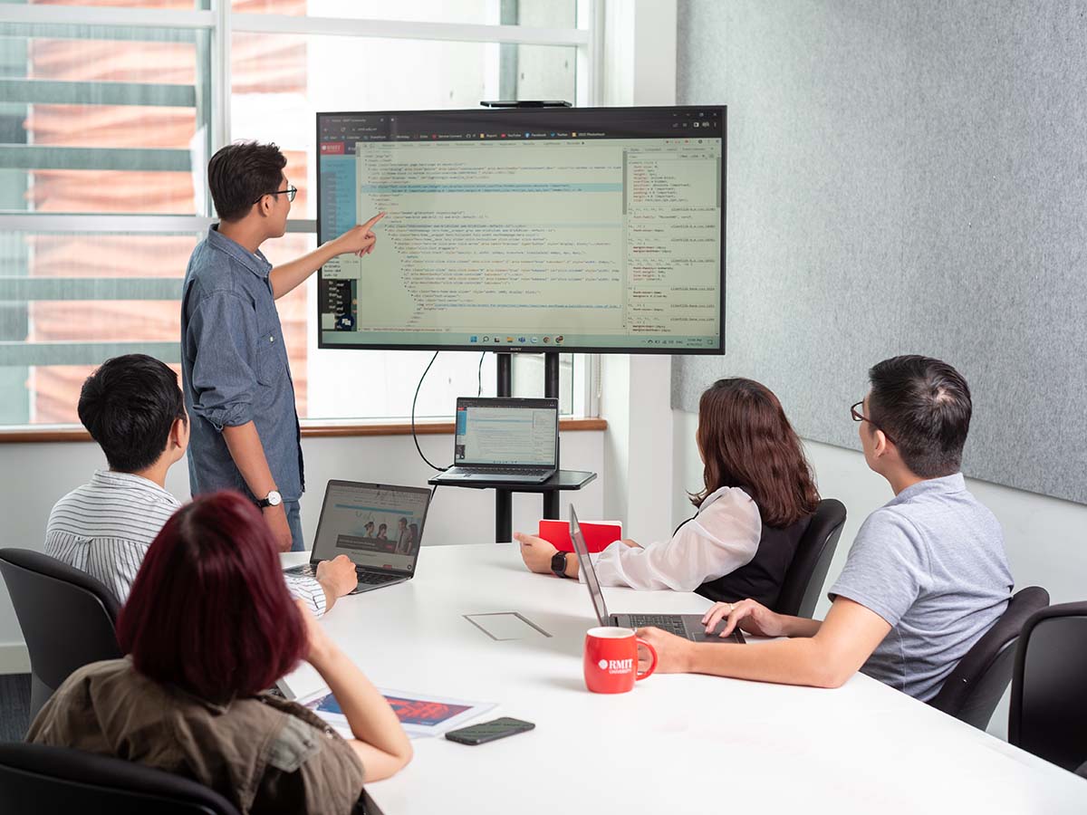
[[[0,210],[204,214],[209,40],[0,25]]]

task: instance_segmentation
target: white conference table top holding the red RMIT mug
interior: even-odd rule
[[[604,594],[612,613],[709,605]],[[493,612],[551,636],[496,641],[462,616]],[[476,720],[536,724],[479,747],[415,739],[408,767],[366,787],[386,815],[1087,813],[1087,780],[863,675],[820,690],[655,674],[590,693],[585,586],[527,572],[510,543],[425,547],[414,579],[339,600],[324,625],[378,687],[497,702]]]

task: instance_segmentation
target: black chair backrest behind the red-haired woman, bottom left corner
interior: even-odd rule
[[[45,744],[0,744],[0,812],[238,815],[214,790],[134,762]]]

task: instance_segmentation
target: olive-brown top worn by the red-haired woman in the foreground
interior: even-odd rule
[[[351,745],[305,707],[272,695],[208,702],[128,659],[72,674],[26,740],[176,773],[253,815],[350,813],[362,794]]]

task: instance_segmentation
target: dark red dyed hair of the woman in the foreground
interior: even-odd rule
[[[305,628],[260,511],[237,492],[178,510],[148,549],[117,642],[141,674],[213,702],[290,672]]]

